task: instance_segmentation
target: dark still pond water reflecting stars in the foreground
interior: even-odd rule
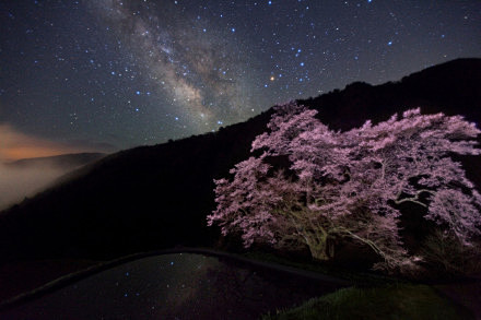
[[[0,318],[256,319],[335,288],[224,258],[176,253],[101,272]]]

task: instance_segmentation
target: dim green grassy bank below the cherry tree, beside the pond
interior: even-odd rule
[[[304,305],[266,315],[262,320],[288,319],[473,319],[426,285],[397,284],[374,288],[343,288]]]

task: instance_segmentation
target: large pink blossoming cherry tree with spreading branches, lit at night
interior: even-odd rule
[[[215,181],[209,225],[218,223],[224,235],[241,232],[246,247],[307,246],[318,260],[331,259],[333,244],[350,238],[382,257],[375,268],[388,270],[418,259],[400,240],[401,203],[425,208],[426,220],[465,245],[480,234],[481,195],[450,157],[480,154],[473,123],[411,109],[339,132],[316,114],[295,103],[277,107],[269,132],[253,142],[260,155],[237,164],[232,180]],[[273,167],[275,157],[289,158],[289,167]]]

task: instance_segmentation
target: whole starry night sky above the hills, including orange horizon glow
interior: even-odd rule
[[[114,152],[481,57],[481,1],[2,0],[0,159]]]

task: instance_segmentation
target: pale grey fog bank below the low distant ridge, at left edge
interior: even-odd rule
[[[67,171],[46,164],[23,167],[0,164],[0,210],[35,195]]]

